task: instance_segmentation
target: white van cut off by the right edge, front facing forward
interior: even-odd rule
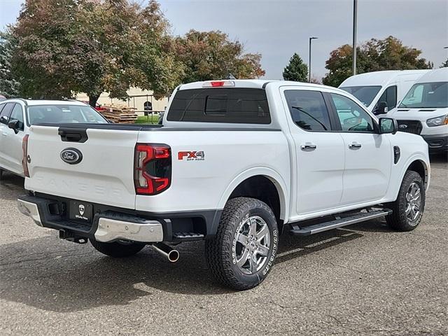
[[[398,130],[420,134],[430,153],[448,151],[448,68],[421,76],[387,116],[398,120]]]

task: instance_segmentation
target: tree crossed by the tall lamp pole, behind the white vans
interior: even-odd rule
[[[421,50],[402,45],[393,36],[384,40],[372,38],[356,48],[356,71],[364,73],[381,70],[432,69],[433,64],[419,58]],[[325,68],[329,72],[322,78],[325,85],[339,86],[352,75],[352,47],[342,45],[330,52]]]

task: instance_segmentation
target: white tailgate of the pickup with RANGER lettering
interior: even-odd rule
[[[139,130],[87,128],[87,141],[63,141],[59,127],[32,126],[28,141],[29,176],[25,188],[39,193],[135,208],[134,148]],[[79,131],[76,131],[79,132]],[[82,131],[81,131],[82,132]],[[73,140],[73,139],[72,139]],[[77,164],[62,160],[62,151],[74,148]]]

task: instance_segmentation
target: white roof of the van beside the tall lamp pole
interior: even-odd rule
[[[384,86],[396,76],[420,74],[428,72],[428,70],[386,70],[360,73],[344,80],[339,87],[358,86],[358,85],[378,85]]]

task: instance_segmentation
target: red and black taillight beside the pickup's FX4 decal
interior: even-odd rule
[[[164,144],[137,144],[134,186],[137,195],[157,195],[171,184],[171,148]]]

